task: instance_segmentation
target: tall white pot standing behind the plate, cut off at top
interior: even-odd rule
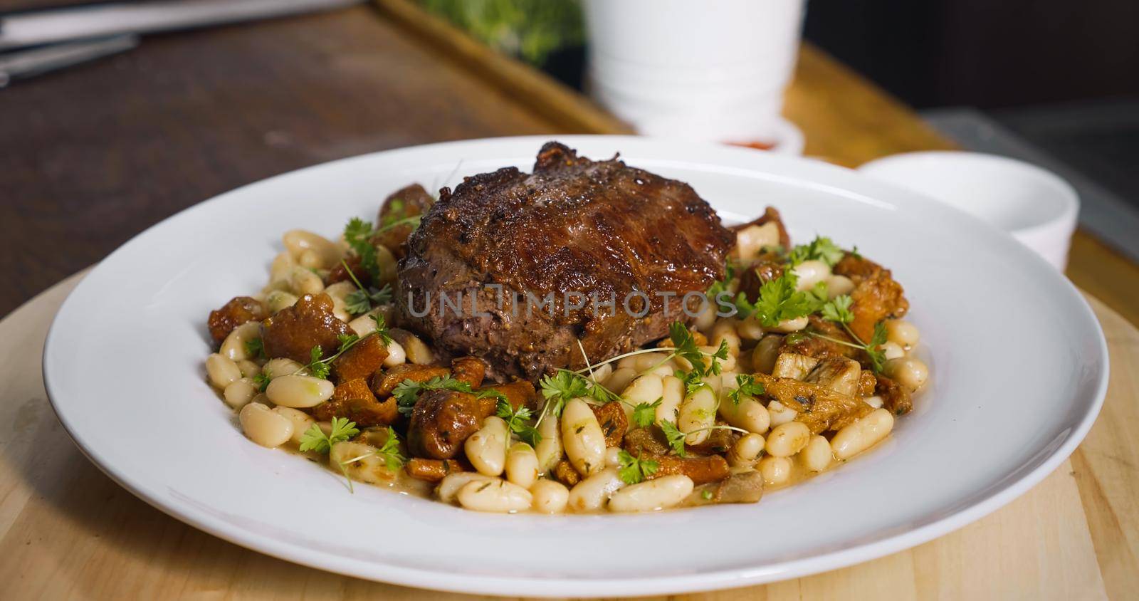
[[[585,0],[584,9],[591,94],[639,133],[780,141],[803,0]]]

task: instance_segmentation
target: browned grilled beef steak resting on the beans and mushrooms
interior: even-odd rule
[[[596,362],[690,321],[683,295],[723,277],[731,242],[688,184],[549,142],[532,174],[441,190],[400,262],[400,319],[490,378],[535,380],[583,367],[579,340]]]

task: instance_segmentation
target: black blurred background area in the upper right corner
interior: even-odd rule
[[[1137,0],[812,0],[805,36],[918,108],[1139,94]]]

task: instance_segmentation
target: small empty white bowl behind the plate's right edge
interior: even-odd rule
[[[907,153],[859,171],[972,213],[1009,232],[1056,269],[1067,265],[1080,212],[1068,182],[1030,163],[981,153]]]

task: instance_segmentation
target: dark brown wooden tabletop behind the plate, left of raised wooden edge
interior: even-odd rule
[[[252,181],[386,148],[555,131],[368,6],[147,38],[0,91],[0,315]]]

